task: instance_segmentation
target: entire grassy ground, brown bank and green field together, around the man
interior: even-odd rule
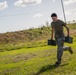
[[[74,43],[65,45],[74,54],[64,52],[61,65],[55,68],[56,47],[47,46],[50,27],[0,34],[0,75],[76,75],[76,30],[71,29],[70,35]]]

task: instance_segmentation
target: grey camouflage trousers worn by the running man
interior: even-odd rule
[[[61,60],[63,51],[69,50],[69,47],[64,46],[64,41],[65,41],[64,36],[56,37],[55,40],[56,40],[56,44],[57,44],[57,59]]]

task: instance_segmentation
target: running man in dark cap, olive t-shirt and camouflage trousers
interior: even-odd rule
[[[52,26],[52,36],[51,39],[53,39],[53,33],[55,33],[55,41],[57,44],[57,62],[55,63],[55,67],[58,67],[61,64],[61,59],[62,59],[62,55],[63,55],[63,51],[69,51],[71,54],[73,54],[73,51],[71,49],[71,47],[64,47],[64,41],[65,41],[65,37],[64,37],[64,33],[63,33],[63,27],[65,27],[67,29],[67,36],[69,36],[69,28],[66,26],[66,23],[64,23],[63,21],[59,20],[57,18],[57,14],[53,13],[51,15],[51,18],[53,20],[53,22],[51,23]]]

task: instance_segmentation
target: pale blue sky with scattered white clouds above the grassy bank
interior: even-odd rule
[[[63,0],[66,20],[76,20],[76,0]],[[36,28],[51,23],[57,13],[64,21],[61,0],[0,0],[0,33]]]

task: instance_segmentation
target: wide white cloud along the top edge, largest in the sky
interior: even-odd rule
[[[40,4],[41,2],[42,0],[17,0],[17,2],[14,3],[14,5],[26,7],[27,5]]]

